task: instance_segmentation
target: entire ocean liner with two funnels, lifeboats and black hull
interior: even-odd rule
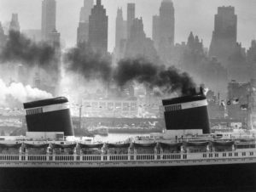
[[[64,97],[25,103],[26,137],[1,137],[0,167],[5,175],[0,179],[5,182],[0,187],[23,186],[24,178],[14,176],[17,173],[34,181],[29,189],[53,185],[61,189],[77,185],[86,189],[92,185],[102,189],[115,185],[179,189],[210,183],[215,187],[255,186],[253,134],[211,134],[202,93],[162,103],[165,133],[118,143],[75,138]]]

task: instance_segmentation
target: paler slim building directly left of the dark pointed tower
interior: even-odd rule
[[[93,0],[84,0],[84,7],[80,10],[79,27],[77,30],[77,43],[88,42],[89,16],[93,8]]]

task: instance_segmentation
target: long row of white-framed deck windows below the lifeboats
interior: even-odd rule
[[[128,154],[128,155],[0,155],[1,161],[177,161],[205,159],[234,159],[255,157],[256,150],[178,154]]]

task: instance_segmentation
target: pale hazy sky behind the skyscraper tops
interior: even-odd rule
[[[68,46],[76,43],[79,11],[83,0],[57,1],[57,30]],[[113,50],[115,36],[115,17],[118,7],[123,8],[126,18],[126,3],[137,3],[136,16],[143,17],[144,30],[152,35],[152,16],[159,14],[161,0],[102,0],[108,14],[108,50]],[[42,0],[0,0],[0,21],[8,25],[12,13],[19,14],[20,28],[40,29]],[[255,0],[173,0],[175,7],[175,42],[187,40],[189,31],[204,40],[209,46],[212,37],[214,14],[218,6],[232,5],[238,15],[238,42],[249,47],[256,38]]]

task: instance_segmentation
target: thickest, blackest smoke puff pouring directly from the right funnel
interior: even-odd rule
[[[149,88],[160,88],[163,93],[179,91],[182,95],[190,95],[195,91],[195,82],[186,72],[175,67],[154,65],[145,59],[122,59],[113,71],[113,80],[119,86],[126,82],[136,81]]]

